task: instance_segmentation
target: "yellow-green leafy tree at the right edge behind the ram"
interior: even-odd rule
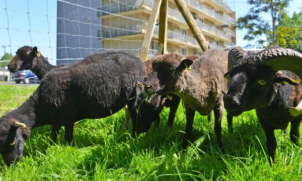
[[[281,16],[276,37],[277,45],[302,52],[302,9],[292,18],[285,13]]]

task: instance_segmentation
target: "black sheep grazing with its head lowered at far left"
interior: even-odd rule
[[[0,118],[0,153],[7,164],[20,160],[30,131],[43,125],[65,126],[70,143],[74,122],[110,116],[126,104],[134,135],[140,93],[136,84],[144,75],[139,58],[123,52],[96,53],[49,71],[29,100]]]

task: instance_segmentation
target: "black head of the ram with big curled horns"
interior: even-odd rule
[[[269,105],[274,95],[274,83],[299,84],[298,81],[282,74],[282,69],[302,73],[294,68],[302,55],[285,48],[265,49],[258,55],[248,56],[243,49],[236,47],[229,52],[229,89],[224,98],[224,108],[232,116],[244,111]]]

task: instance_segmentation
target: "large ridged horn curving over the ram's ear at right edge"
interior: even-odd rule
[[[274,70],[289,70],[302,79],[302,54],[289,48],[273,48],[259,55],[263,64]]]

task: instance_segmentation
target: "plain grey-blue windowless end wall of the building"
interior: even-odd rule
[[[85,56],[102,50],[97,38],[101,19],[97,7],[101,1],[57,1],[57,62],[75,63]]]

